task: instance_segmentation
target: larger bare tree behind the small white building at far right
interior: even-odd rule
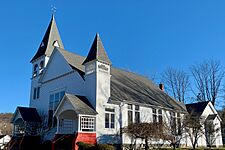
[[[211,101],[215,105],[221,82],[225,71],[219,61],[207,60],[191,67],[195,87],[198,92],[193,92],[198,101]]]

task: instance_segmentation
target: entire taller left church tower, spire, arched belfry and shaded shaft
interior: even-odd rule
[[[51,21],[39,45],[39,48],[30,61],[33,66],[31,77],[30,106],[33,106],[34,100],[40,98],[41,85],[38,83],[38,80],[48,63],[49,57],[51,56],[54,47],[60,47],[64,49],[56,25],[55,17],[52,15]]]

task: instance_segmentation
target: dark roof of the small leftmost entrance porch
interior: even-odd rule
[[[17,107],[17,110],[20,112],[23,121],[41,122],[41,118],[40,118],[36,108]]]

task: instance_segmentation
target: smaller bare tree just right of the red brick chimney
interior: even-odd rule
[[[162,73],[161,78],[162,82],[166,85],[168,92],[180,102],[185,102],[190,85],[189,76],[184,71],[170,67]]]

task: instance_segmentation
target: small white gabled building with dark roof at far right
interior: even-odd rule
[[[222,146],[221,118],[211,102],[198,102],[186,105],[187,111],[195,118],[199,118],[203,126],[203,134],[201,134],[197,145],[215,147]],[[188,140],[188,145],[191,145]]]

